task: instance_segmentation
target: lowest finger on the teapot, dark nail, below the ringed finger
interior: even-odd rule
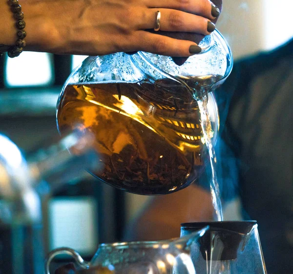
[[[143,30],[136,32],[131,44],[137,45],[136,48],[132,50],[146,51],[173,57],[188,57],[201,52],[201,48],[194,42],[177,40]]]

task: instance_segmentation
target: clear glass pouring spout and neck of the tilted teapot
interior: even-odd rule
[[[230,47],[217,30],[206,36],[199,45],[201,53],[189,57],[180,66],[167,56],[146,52],[138,52],[130,58],[136,67],[147,74],[147,79],[169,79],[198,95],[199,91],[210,92],[222,84],[233,67]]]

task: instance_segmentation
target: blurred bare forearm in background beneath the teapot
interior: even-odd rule
[[[153,197],[145,210],[126,228],[125,240],[178,237],[181,223],[210,221],[213,212],[209,192],[197,186]]]

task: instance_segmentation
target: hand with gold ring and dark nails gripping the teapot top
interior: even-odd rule
[[[200,50],[194,42],[147,31],[155,26],[156,11],[161,12],[162,31],[208,35],[215,10],[209,0],[19,0],[19,3],[26,22],[25,50],[81,55],[142,50],[190,56]],[[16,30],[12,16],[8,18],[11,21],[5,23],[5,33],[13,44]],[[193,51],[190,53],[189,49]]]

